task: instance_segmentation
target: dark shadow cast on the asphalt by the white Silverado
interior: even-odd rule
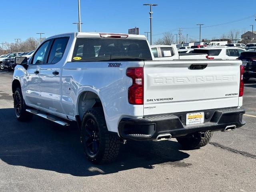
[[[110,174],[133,168],[154,168],[154,164],[189,166],[182,162],[189,154],[174,141],[136,142],[122,145],[116,162],[94,165],[86,160],[76,124],[62,128],[33,117],[18,122],[12,108],[0,109],[0,159],[14,166],[51,170],[74,176]]]

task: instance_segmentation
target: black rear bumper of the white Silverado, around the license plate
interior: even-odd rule
[[[145,116],[143,118],[122,118],[118,131],[121,138],[132,140],[156,140],[159,135],[171,134],[172,138],[195,132],[224,131],[227,126],[239,128],[245,124],[240,108],[202,110],[204,123],[185,125],[184,116],[191,112]]]

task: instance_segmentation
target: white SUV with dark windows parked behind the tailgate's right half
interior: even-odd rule
[[[223,59],[223,60],[235,60],[244,51],[246,50],[242,48],[226,47],[226,46],[194,49],[194,53],[208,54],[208,56],[206,56],[207,59]]]

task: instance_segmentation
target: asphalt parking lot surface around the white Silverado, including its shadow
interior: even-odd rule
[[[183,150],[175,139],[128,142],[115,163],[96,166],[83,155],[76,126],[34,117],[15,119],[12,73],[0,71],[0,191],[254,192],[256,79],[244,87],[247,122],[215,132],[207,146]]]

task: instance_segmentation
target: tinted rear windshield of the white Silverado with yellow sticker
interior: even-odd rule
[[[152,60],[146,40],[124,38],[77,38],[72,61]]]

